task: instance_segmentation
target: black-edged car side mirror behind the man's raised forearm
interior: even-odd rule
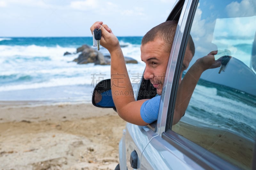
[[[96,107],[113,108],[116,111],[111,92],[111,80],[100,81],[92,93],[92,104]]]

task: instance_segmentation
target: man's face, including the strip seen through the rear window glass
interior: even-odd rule
[[[157,94],[161,95],[170,52],[166,51],[164,41],[161,39],[155,39],[154,41],[144,44],[140,47],[140,51],[141,60],[146,63],[144,78],[150,80],[156,88]],[[181,68],[179,84],[181,82],[182,72],[188,68],[192,57],[192,52],[189,50],[189,46],[187,46]]]

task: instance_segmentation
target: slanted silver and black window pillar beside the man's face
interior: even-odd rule
[[[179,76],[181,71],[181,61],[183,61],[186,44],[188,41],[188,33],[190,32],[192,26],[192,19],[194,18],[196,7],[199,0],[185,0],[184,5],[181,10],[180,18],[178,21],[178,26],[174,36],[174,41],[172,44],[172,49],[170,53],[170,58],[167,65],[166,73],[168,73],[167,78],[164,80],[163,94],[161,101],[163,101],[163,109],[161,109],[161,103],[159,108],[159,113],[162,113],[161,118],[161,129],[160,134],[163,132],[171,130],[172,128],[172,118],[174,113],[176,93],[179,83]],[[182,4],[182,1],[180,4]],[[179,3],[177,3],[178,5]],[[174,10],[180,11],[180,10]],[[178,15],[171,12],[167,20],[175,19]],[[159,121],[159,116],[158,116]]]

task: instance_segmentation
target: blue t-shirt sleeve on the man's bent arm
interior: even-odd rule
[[[161,96],[153,97],[145,101],[140,107],[140,116],[146,123],[152,123],[157,120]]]

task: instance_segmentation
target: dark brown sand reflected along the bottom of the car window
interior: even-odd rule
[[[254,143],[244,137],[227,130],[196,127],[185,122],[172,126],[172,130],[242,169],[249,169],[252,165]]]

